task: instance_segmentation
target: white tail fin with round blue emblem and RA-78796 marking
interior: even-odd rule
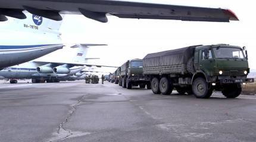
[[[49,20],[48,18],[30,14],[27,11],[24,11],[24,14],[27,17],[24,20],[9,18],[7,26],[10,27],[11,25],[11,30],[60,35],[59,30],[63,21]]]

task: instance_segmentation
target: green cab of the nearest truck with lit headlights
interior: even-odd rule
[[[242,85],[254,82],[254,79],[246,79],[249,73],[247,51],[238,46],[218,44],[196,47],[194,68],[192,89],[194,93],[201,92],[202,96],[205,95],[204,85],[198,83],[202,80],[207,82],[207,90],[221,91],[227,98],[239,96]]]

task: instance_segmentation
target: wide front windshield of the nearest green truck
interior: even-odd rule
[[[214,56],[217,59],[245,59],[243,51],[235,48],[214,48]]]

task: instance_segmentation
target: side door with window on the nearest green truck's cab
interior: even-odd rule
[[[199,69],[203,70],[207,75],[211,75],[214,72],[214,59],[211,50],[202,49],[199,51]]]

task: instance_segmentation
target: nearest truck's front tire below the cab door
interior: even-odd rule
[[[196,78],[192,83],[193,94],[196,98],[210,98],[211,94],[213,94],[213,89],[209,89],[207,82],[204,78]]]

